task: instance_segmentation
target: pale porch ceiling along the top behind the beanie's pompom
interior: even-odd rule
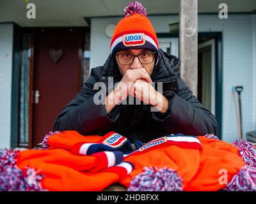
[[[26,2],[36,5],[36,19],[28,19]],[[88,26],[84,17],[123,16],[124,0],[0,0],[0,22],[22,27]],[[141,0],[148,15],[178,14],[179,0]],[[218,13],[222,0],[198,0],[198,13]],[[255,0],[226,0],[228,12],[256,12]]]

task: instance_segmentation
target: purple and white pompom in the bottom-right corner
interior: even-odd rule
[[[243,166],[223,191],[256,191],[256,168]]]

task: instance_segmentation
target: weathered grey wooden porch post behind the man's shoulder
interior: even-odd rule
[[[197,0],[180,0],[180,76],[197,96]]]

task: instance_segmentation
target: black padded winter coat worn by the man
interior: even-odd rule
[[[163,82],[163,95],[168,99],[166,113],[150,112],[150,105],[116,105],[110,113],[103,104],[95,105],[93,90],[96,82],[107,86],[108,77],[114,84],[122,75],[114,59],[109,55],[104,66],[93,68],[90,78],[76,98],[61,110],[54,123],[54,131],[76,130],[81,135],[104,135],[115,131],[132,142],[148,142],[160,136],[182,133],[184,135],[218,134],[214,115],[193,96],[179,75],[177,57],[160,50],[160,59],[154,68],[153,82]],[[107,86],[108,88],[108,86]],[[108,90],[108,89],[107,89]]]

